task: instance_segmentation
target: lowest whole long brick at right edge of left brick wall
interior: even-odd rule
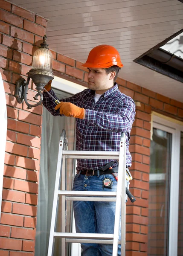
[[[33,240],[35,239],[35,230],[12,227],[11,237]]]

